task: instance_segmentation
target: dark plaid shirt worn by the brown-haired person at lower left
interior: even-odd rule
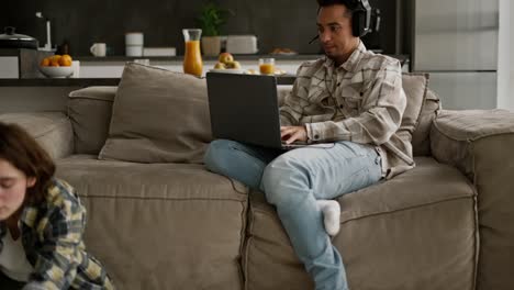
[[[20,217],[21,239],[34,271],[23,290],[114,289],[104,267],[86,252],[86,219],[75,189],[58,179],[52,180],[41,204],[25,205]],[[5,223],[0,222],[0,252],[5,231]]]

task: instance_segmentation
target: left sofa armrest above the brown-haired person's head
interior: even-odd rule
[[[0,122],[15,123],[29,132],[53,159],[74,153],[71,122],[62,112],[23,112],[0,114]]]

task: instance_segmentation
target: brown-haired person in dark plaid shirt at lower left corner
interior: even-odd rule
[[[0,288],[114,289],[85,252],[86,209],[54,171],[33,137],[0,122]]]

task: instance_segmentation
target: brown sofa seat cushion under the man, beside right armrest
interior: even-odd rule
[[[471,290],[477,264],[473,187],[433,158],[391,180],[343,196],[333,239],[350,289]],[[313,289],[262,193],[250,192],[247,290]]]

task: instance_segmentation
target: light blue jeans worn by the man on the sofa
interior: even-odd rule
[[[209,170],[265,192],[317,290],[348,289],[342,257],[325,232],[315,201],[379,181],[381,161],[373,146],[337,142],[329,148],[284,152],[217,140],[209,146],[204,161]]]

